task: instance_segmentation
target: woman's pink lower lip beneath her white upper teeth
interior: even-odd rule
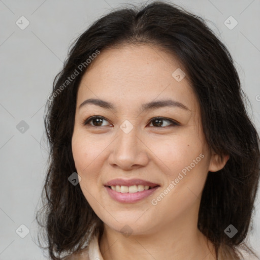
[[[149,197],[158,187],[159,186],[156,186],[154,188],[143,190],[143,191],[138,191],[135,193],[131,193],[131,192],[121,193],[121,192],[111,189],[108,186],[105,186],[110,197],[113,200],[115,200],[117,202],[122,202],[122,203],[135,203],[135,202],[141,201],[141,200]]]

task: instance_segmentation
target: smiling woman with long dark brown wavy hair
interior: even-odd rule
[[[243,96],[229,51],[176,5],[92,24],[48,97],[50,258],[253,256],[259,137]]]

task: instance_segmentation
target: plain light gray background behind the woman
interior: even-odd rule
[[[251,103],[249,114],[259,132],[260,1],[173,2],[210,20],[209,26],[229,48]],[[0,0],[0,260],[46,259],[35,244],[38,231],[35,213],[47,169],[43,123],[47,96],[70,43],[91,22],[123,3],[138,2]],[[21,16],[30,23],[24,30],[16,25]],[[238,21],[232,30],[224,24],[230,16]],[[21,120],[29,125],[24,133],[16,128]],[[259,192],[255,205],[254,231],[249,239],[260,254]],[[23,239],[16,234],[21,224],[30,231]]]

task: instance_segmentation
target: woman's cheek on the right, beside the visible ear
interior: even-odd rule
[[[175,136],[156,147],[153,150],[163,161],[164,164],[160,164],[163,165],[161,170],[166,174],[162,192],[165,191],[167,195],[166,198],[161,196],[164,199],[160,202],[160,207],[172,205],[168,206],[169,211],[178,209],[181,212],[197,200],[207,178],[209,158],[203,139],[190,133]]]

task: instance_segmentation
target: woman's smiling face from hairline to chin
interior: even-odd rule
[[[179,68],[185,72],[156,47],[128,45],[102,51],[82,77],[73,157],[86,200],[115,231],[127,224],[134,234],[149,234],[198,215],[215,166],[199,103]],[[81,105],[88,99],[111,104]],[[158,101],[172,103],[144,106]]]

